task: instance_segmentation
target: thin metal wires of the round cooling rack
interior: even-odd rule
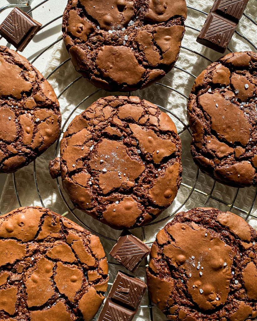
[[[34,10],[36,10],[37,8],[39,8],[40,10],[40,7],[43,6],[43,4],[45,4],[47,1],[49,0],[44,0],[42,2],[40,2],[39,4],[37,4],[36,6],[32,7],[27,13],[31,13],[33,12]],[[257,0],[254,0],[254,1],[257,1]],[[201,11],[199,9],[196,9],[196,8],[193,8],[191,6],[187,6],[187,8],[189,10],[193,10],[195,12],[199,12],[203,15],[207,15],[208,13],[204,12],[204,11]],[[244,17],[249,21],[249,23],[253,23],[254,25],[257,25],[257,23],[255,21],[253,21],[253,19],[251,17],[249,17],[247,14],[244,14]],[[56,22],[56,20],[58,19],[62,19],[62,15],[59,15],[57,16],[56,18],[54,18],[53,20],[47,22],[45,25],[43,25],[41,27],[41,30],[46,28],[47,26],[51,25],[53,22]],[[194,28],[190,25],[185,25],[186,26],[186,29],[187,30],[193,30],[193,31],[197,31],[197,32],[200,32],[200,30],[198,30],[197,28]],[[257,51],[257,48],[255,46],[255,44],[253,44],[249,39],[247,39],[244,35],[242,35],[241,33],[239,33],[238,31],[236,31],[236,34],[243,39],[244,42],[248,43],[253,49],[255,49]],[[0,40],[1,40],[2,37],[0,37]],[[31,60],[31,63],[34,63],[36,60],[38,60],[40,58],[40,56],[42,56],[48,49],[52,48],[56,43],[58,43],[59,41],[61,41],[62,39],[59,38],[57,39],[56,41],[54,41],[53,43],[51,43],[50,45],[48,45],[46,48],[44,48],[43,50],[40,51],[40,53],[34,57],[33,60]],[[208,63],[211,63],[212,61],[202,55],[201,53],[198,53],[186,46],[182,46],[181,47],[183,50],[185,51],[190,51],[191,53],[205,59]],[[232,52],[231,49],[228,48],[228,50],[230,52]],[[47,79],[50,78],[52,75],[54,75],[57,70],[61,67],[63,67],[65,64],[69,63],[70,61],[70,58],[66,59],[65,61],[63,61],[60,65],[56,66],[56,68],[50,73],[47,75]],[[185,74],[185,77],[189,77],[191,78],[192,80],[194,80],[196,78],[196,75],[190,73],[189,71],[187,70],[184,70],[182,67],[180,67],[179,65],[175,65],[174,66],[174,69],[177,69],[179,70],[180,72],[184,73]],[[69,83],[61,92],[60,94],[58,95],[58,99],[60,97],[62,97],[65,92],[71,88],[76,82],[78,82],[80,79],[82,78],[82,76],[79,76],[77,77],[75,80],[73,80],[71,83]],[[174,93],[176,93],[177,95],[180,95],[181,97],[183,97],[185,99],[185,106],[186,106],[186,100],[188,99],[187,95],[185,95],[183,92],[179,91],[178,89],[176,88],[173,88],[171,86],[168,86],[168,85],[165,85],[163,83],[155,83],[154,85],[152,86],[157,86],[157,87],[162,87],[164,88],[166,91],[172,91]],[[100,90],[96,90],[94,92],[92,92],[90,95],[88,95],[87,97],[85,97],[83,100],[80,101],[79,104],[77,104],[77,106],[71,111],[71,113],[69,114],[69,116],[65,119],[64,121],[64,124],[62,126],[62,129],[61,129],[61,133],[58,137],[58,140],[57,140],[57,143],[56,143],[56,148],[55,148],[55,157],[58,155],[58,151],[59,151],[59,143],[60,143],[60,139],[65,131],[65,127],[67,126],[67,124],[69,124],[69,122],[73,119],[73,115],[75,113],[75,111],[84,103],[86,103],[88,100],[90,100],[90,98],[92,98],[94,95],[96,95],[97,93],[99,93]],[[144,97],[147,99],[147,97]],[[180,123],[180,131],[179,131],[179,135],[183,135],[184,133],[187,133],[190,137],[190,131],[189,131],[189,128],[188,128],[188,125],[184,123],[184,121],[178,117],[175,113],[173,113],[171,110],[168,110],[165,106],[158,106],[161,110],[163,110],[164,112],[167,112],[171,117],[175,118],[179,123]],[[44,200],[43,198],[41,197],[41,194],[40,194],[40,188],[39,188],[39,185],[38,185],[38,177],[39,177],[39,174],[37,174],[37,160],[34,161],[34,183],[35,183],[35,188],[36,188],[36,191],[37,191],[37,194],[38,194],[38,197],[39,197],[39,200],[40,200],[40,203],[43,207],[45,207],[45,204],[44,204]],[[227,210],[228,211],[234,211],[236,213],[239,213],[240,215],[242,215],[244,217],[245,220],[248,220],[249,219],[249,216],[251,215],[251,217],[253,218],[256,218],[257,219],[257,215],[255,213],[253,213],[253,207],[255,205],[255,201],[256,201],[256,196],[257,196],[257,188],[255,188],[255,192],[254,192],[254,195],[252,197],[252,200],[251,200],[251,204],[249,204],[248,208],[247,209],[244,209],[243,206],[238,206],[236,204],[236,200],[237,200],[237,197],[238,197],[238,194],[239,194],[239,188],[236,189],[235,193],[234,193],[234,197],[233,199],[231,200],[231,202],[228,202],[226,201],[225,199],[222,199],[220,197],[217,197],[215,196],[215,193],[214,193],[214,190],[215,190],[215,187],[217,186],[217,183],[212,180],[210,178],[210,180],[212,181],[212,186],[210,187],[210,190],[208,192],[205,192],[205,191],[202,191],[200,188],[197,188],[197,183],[198,183],[198,180],[199,180],[199,176],[200,175],[203,175],[199,172],[199,169],[196,170],[195,172],[195,177],[192,181],[192,184],[187,184],[186,182],[184,182],[182,180],[182,184],[181,186],[183,186],[185,189],[188,190],[188,193],[187,193],[187,196],[184,198],[182,204],[180,204],[178,207],[176,207],[175,209],[173,209],[172,213],[168,213],[167,215],[164,215],[164,216],[160,216],[159,218],[157,218],[155,221],[153,222],[150,222],[149,224],[147,224],[145,227],[142,227],[141,228],[141,238],[142,240],[150,245],[152,243],[152,240],[147,240],[146,238],[146,228],[148,228],[149,226],[152,226],[152,225],[155,225],[157,223],[160,223],[160,222],[165,222],[165,221],[168,221],[168,220],[171,220],[172,219],[172,216],[177,213],[179,210],[181,210],[184,205],[188,202],[188,200],[190,200],[191,196],[193,193],[197,193],[199,195],[201,195],[202,197],[205,198],[205,201],[204,201],[204,204],[203,204],[203,207],[205,207],[206,205],[208,205],[211,201],[214,201],[214,202],[218,202],[219,204],[222,204],[224,206],[226,206]],[[112,242],[114,244],[114,242],[116,242],[116,239],[113,239],[109,236],[106,236],[106,235],[103,235],[101,233],[99,233],[97,230],[94,230],[94,228],[92,226],[89,226],[83,219],[81,219],[81,217],[79,215],[77,215],[77,213],[74,211],[75,208],[70,204],[69,200],[68,200],[68,197],[67,195],[65,195],[65,193],[63,192],[62,190],[62,187],[61,187],[61,184],[60,184],[60,180],[57,178],[56,179],[56,184],[57,184],[57,187],[58,187],[58,191],[62,197],[62,200],[63,202],[65,203],[66,207],[67,207],[67,211],[65,213],[63,213],[63,215],[66,215],[67,213],[72,213],[76,218],[77,220],[81,223],[82,226],[85,226],[88,230],[90,230],[92,233],[98,235],[99,237],[101,238],[104,238],[104,239],[107,239],[109,242]],[[15,190],[15,194],[16,194],[16,197],[17,197],[17,201],[19,203],[20,206],[24,206],[26,204],[21,204],[21,201],[20,201],[20,196],[19,196],[19,193],[18,193],[18,189],[17,189],[17,186],[16,186],[16,178],[15,178],[15,173],[13,173],[13,187],[14,187],[14,190]],[[110,261],[108,260],[108,264],[109,265],[112,265],[112,266],[116,266],[116,269],[118,270],[120,268],[120,265],[118,263],[115,263],[114,261]],[[148,261],[147,259],[145,259],[145,262],[144,262],[144,265],[141,265],[141,268],[142,269],[145,269],[145,267],[148,265]],[[109,283],[111,285],[111,283]],[[147,294],[146,294],[147,296]],[[148,309],[149,310],[149,320],[150,321],[155,321],[155,317],[154,317],[154,314],[153,314],[153,305],[151,304],[151,301],[150,301],[150,297],[148,296],[147,297],[147,300],[148,300],[148,304],[147,305],[141,305],[139,309]],[[135,318],[136,319],[136,318]],[[94,320],[97,320],[96,318]],[[158,318],[158,320],[161,320],[161,318]],[[165,317],[163,317],[162,320],[165,320]]]

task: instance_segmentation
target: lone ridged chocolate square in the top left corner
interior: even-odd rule
[[[20,51],[41,28],[42,24],[15,7],[0,25],[0,35]]]

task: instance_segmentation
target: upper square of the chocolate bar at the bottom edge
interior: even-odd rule
[[[145,282],[140,279],[118,272],[108,298],[126,308],[137,310],[146,288]]]

